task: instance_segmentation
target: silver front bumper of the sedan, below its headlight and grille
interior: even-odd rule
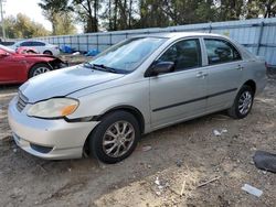
[[[82,157],[86,138],[98,122],[31,118],[25,113],[28,106],[19,112],[17,101],[15,97],[10,102],[8,118],[14,141],[21,149],[49,160]]]

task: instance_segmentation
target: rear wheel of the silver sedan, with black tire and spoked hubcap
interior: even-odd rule
[[[242,86],[237,92],[233,106],[227,110],[230,117],[234,119],[245,118],[252,109],[254,91],[250,86]],[[243,107],[244,105],[244,107]]]

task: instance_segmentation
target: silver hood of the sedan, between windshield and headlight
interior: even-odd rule
[[[36,102],[52,97],[67,96],[123,76],[123,74],[94,70],[78,65],[31,78],[20,87],[20,90],[29,99],[29,102]]]

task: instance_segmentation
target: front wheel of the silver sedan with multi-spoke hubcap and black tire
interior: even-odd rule
[[[114,164],[134,152],[140,135],[139,123],[131,113],[115,111],[105,116],[89,135],[89,150],[100,162]]]

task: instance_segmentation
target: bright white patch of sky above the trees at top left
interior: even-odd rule
[[[42,10],[38,6],[40,0],[6,0],[3,9],[4,17],[17,15],[23,13],[31,18],[31,20],[44,25],[45,29],[52,30],[51,23],[42,15]]]

